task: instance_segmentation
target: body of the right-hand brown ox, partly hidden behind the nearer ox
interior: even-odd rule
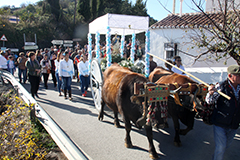
[[[160,72],[158,72],[160,74]],[[165,74],[165,73],[163,73]],[[151,75],[154,77],[154,75]],[[157,80],[155,83],[162,83],[162,84],[173,84],[177,83],[179,86],[181,85],[188,85],[187,83],[191,83],[192,85],[196,82],[190,79],[187,76],[183,76],[177,73],[173,73],[171,75],[164,75],[161,76],[159,80]],[[195,88],[191,93],[194,93]],[[175,128],[175,137],[174,137],[174,144],[176,146],[181,146],[181,140],[179,135],[186,135],[190,130],[193,129],[194,125],[194,117],[196,115],[196,112],[191,110],[193,106],[193,95],[182,95],[179,96],[179,100],[182,103],[182,106],[175,103],[175,100],[172,96],[169,96],[168,98],[168,113],[171,115],[174,128]],[[187,126],[186,129],[180,129],[179,120]]]

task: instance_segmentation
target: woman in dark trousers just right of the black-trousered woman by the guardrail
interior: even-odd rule
[[[44,87],[45,89],[48,89],[47,81],[49,77],[49,73],[51,73],[51,66],[50,66],[50,61],[48,60],[48,55],[45,54],[43,59],[40,62],[42,66],[42,75],[43,75],[43,80],[44,80]]]

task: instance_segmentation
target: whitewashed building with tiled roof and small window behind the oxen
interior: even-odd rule
[[[217,13],[210,14],[213,19],[219,19]],[[190,22],[190,23],[189,23]],[[194,24],[194,25],[190,25]],[[194,63],[195,57],[204,50],[199,49],[194,44],[192,37],[199,33],[200,26],[210,24],[206,18],[200,14],[183,14],[181,18],[177,15],[169,15],[161,21],[150,26],[150,53],[162,59],[171,59],[175,55],[182,58],[185,70],[207,83],[216,83],[226,79],[227,66],[236,64],[233,58],[222,59],[216,62],[203,56]],[[164,66],[164,62],[154,58],[159,66]],[[224,64],[227,62],[227,65]]]

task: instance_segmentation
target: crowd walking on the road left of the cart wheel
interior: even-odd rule
[[[87,62],[87,48],[76,46],[63,49],[61,46],[52,46],[50,49],[20,52],[17,56],[10,49],[1,51],[0,69],[11,72],[14,75],[18,69],[19,82],[25,84],[28,80],[31,84],[31,94],[37,94],[39,84],[42,81],[45,89],[48,89],[48,79],[51,74],[54,87],[58,88],[59,96],[64,94],[67,99],[72,99],[71,81],[81,79],[82,96],[86,96],[89,85],[89,71]],[[83,76],[83,77],[82,77]]]

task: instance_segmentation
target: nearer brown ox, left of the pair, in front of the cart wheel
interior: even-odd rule
[[[125,122],[126,138],[125,146],[132,147],[130,138],[132,121],[136,127],[142,126],[138,123],[142,119],[143,106],[135,104],[131,101],[134,95],[134,83],[145,83],[148,80],[141,74],[134,73],[127,68],[121,67],[117,64],[111,65],[103,73],[104,83],[102,88],[102,110],[99,113],[99,120],[103,120],[103,110],[106,104],[114,112],[114,124],[119,127],[118,112],[121,114]],[[161,117],[158,112],[155,118]],[[150,157],[155,159],[158,157],[155,147],[153,145],[152,126],[144,125],[146,129],[147,138],[149,141]]]

